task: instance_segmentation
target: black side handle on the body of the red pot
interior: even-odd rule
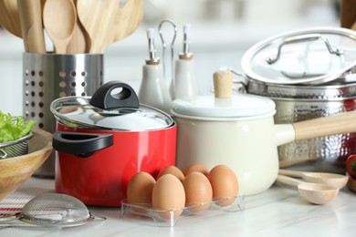
[[[88,158],[95,151],[108,148],[112,144],[112,134],[56,131],[52,136],[54,149],[80,158]]]

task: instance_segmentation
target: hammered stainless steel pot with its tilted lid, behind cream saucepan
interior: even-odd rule
[[[267,38],[242,58],[246,91],[275,101],[277,124],[354,110],[355,49],[356,32],[339,27],[302,29]],[[355,152],[355,133],[293,141],[278,147],[279,166],[312,160],[318,165],[311,170],[343,172],[346,158]],[[324,166],[325,161],[332,168]]]

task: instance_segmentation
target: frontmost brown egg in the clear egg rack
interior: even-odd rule
[[[171,219],[178,217],[183,212],[185,204],[184,187],[180,180],[173,174],[165,174],[157,180],[152,191],[152,208],[161,210],[160,216]]]

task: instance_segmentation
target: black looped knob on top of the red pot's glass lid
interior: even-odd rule
[[[121,88],[120,92],[112,94],[111,92],[116,88]],[[139,98],[137,98],[133,88],[118,80],[112,80],[102,85],[95,91],[89,103],[93,107],[102,109],[140,107]]]

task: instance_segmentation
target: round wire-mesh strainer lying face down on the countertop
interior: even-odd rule
[[[41,194],[28,201],[21,212],[0,218],[0,222],[14,217],[21,222],[44,227],[73,227],[106,220],[105,217],[91,214],[83,202],[61,193]]]

